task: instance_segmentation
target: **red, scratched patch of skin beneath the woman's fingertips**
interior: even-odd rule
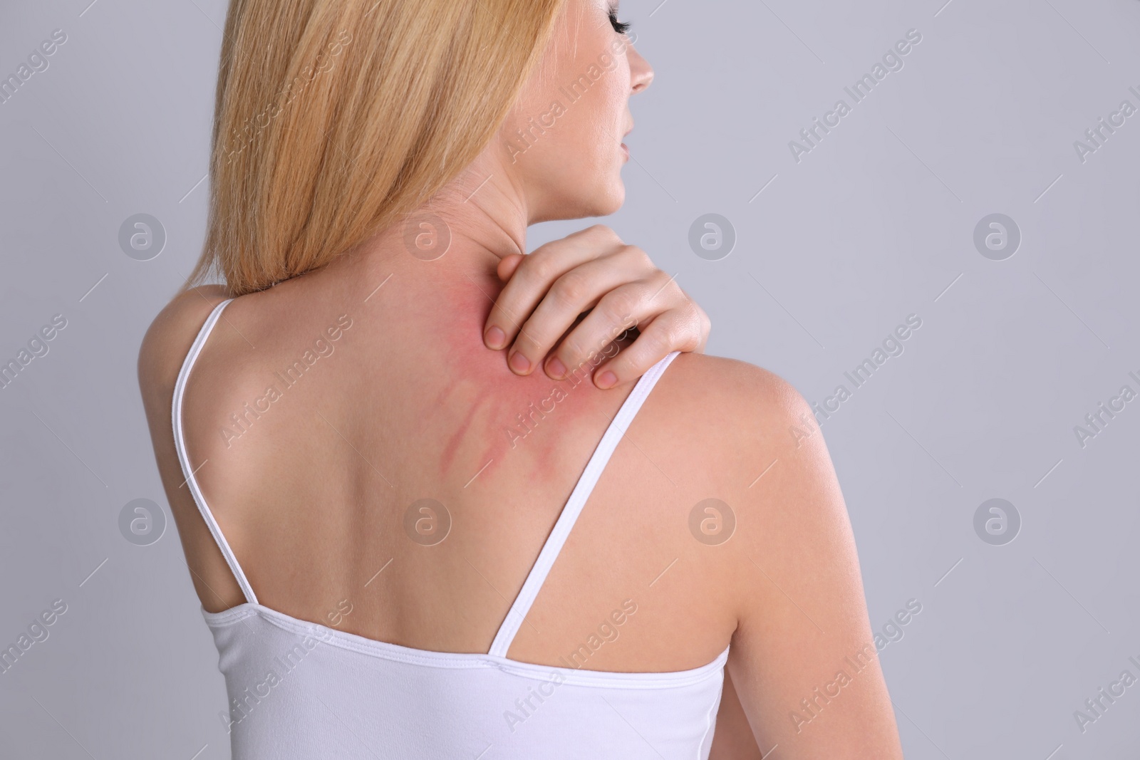
[[[345,334],[345,351],[363,344],[361,353],[383,357],[377,366],[361,361],[359,391],[367,393],[385,377],[390,378],[385,395],[399,398],[404,411],[422,404],[422,428],[438,440],[439,482],[463,485],[477,473],[488,479],[512,467],[549,471],[556,466],[559,439],[546,431],[560,419],[591,414],[603,419],[629,387],[613,393],[594,387],[591,363],[564,379],[553,379],[542,369],[527,376],[512,373],[505,350],[488,350],[481,337],[503,288],[495,273],[497,260],[477,252],[448,255],[450,260],[431,262],[391,256],[374,276],[351,278],[385,283],[375,295],[364,294],[367,302],[360,293],[348,299],[363,303],[364,327]],[[351,263],[343,267],[351,268]],[[334,268],[331,273],[339,272]],[[394,334],[390,326],[396,324],[405,325],[407,334]],[[600,360],[618,349],[596,346]],[[527,456],[512,457],[521,448]]]

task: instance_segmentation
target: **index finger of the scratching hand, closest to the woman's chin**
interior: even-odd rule
[[[512,265],[515,269],[487,317],[483,342],[496,350],[510,345],[559,277],[581,263],[612,253],[620,245],[613,230],[594,224],[539,246],[518,263],[499,262],[503,270]]]

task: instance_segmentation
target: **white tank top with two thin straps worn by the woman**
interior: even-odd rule
[[[202,517],[245,594],[210,613],[229,710],[234,760],[706,760],[725,648],[675,672],[538,665],[506,653],[594,484],[657,379],[654,365],[618,410],[570,495],[487,654],[430,652],[291,618],[258,603],[210,513],[182,438],[182,393],[222,309],[211,312],[174,386],[174,446]],[[600,640],[600,639],[597,639]],[[585,645],[588,648],[588,645]]]

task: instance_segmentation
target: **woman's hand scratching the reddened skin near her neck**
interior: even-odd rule
[[[604,224],[505,256],[498,276],[506,286],[487,317],[483,343],[510,346],[507,366],[516,375],[542,362],[547,376],[562,379],[588,369],[592,354],[636,328],[632,345],[594,369],[594,384],[608,389],[637,379],[670,351],[701,352],[708,340],[705,311]]]

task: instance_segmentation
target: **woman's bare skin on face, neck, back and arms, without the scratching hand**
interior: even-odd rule
[[[606,10],[570,2],[515,119],[544,113],[557,83],[619,36]],[[527,224],[610,213],[624,198],[626,103],[651,70],[628,47],[620,63],[523,158],[511,163],[496,141],[434,202],[453,234],[446,255],[423,261],[401,230],[385,230],[323,270],[227,307],[190,375],[184,423],[192,466],[261,604],[404,646],[488,651],[632,390],[583,382],[512,439],[505,426],[556,383],[518,376],[481,345],[503,288],[499,265],[526,250]],[[612,245],[604,230],[592,235],[597,247]],[[194,336],[223,297],[211,287],[179,295],[139,357],[160,473],[211,612],[244,599],[182,485],[170,404]],[[332,340],[339,324],[350,326]],[[284,383],[318,336],[332,350]],[[245,412],[269,386],[279,398]],[[767,757],[779,745],[776,758],[901,758],[878,660],[857,672],[848,664],[871,629],[842,495],[811,420],[801,395],[772,373],[678,356],[618,444],[507,656],[562,664],[616,610],[634,606],[583,667],[685,670],[731,643],[712,757]],[[405,532],[409,507],[424,498],[451,520],[434,546]],[[690,531],[694,506],[709,498],[736,522],[716,546]],[[812,711],[801,706],[840,670],[850,683]]]

